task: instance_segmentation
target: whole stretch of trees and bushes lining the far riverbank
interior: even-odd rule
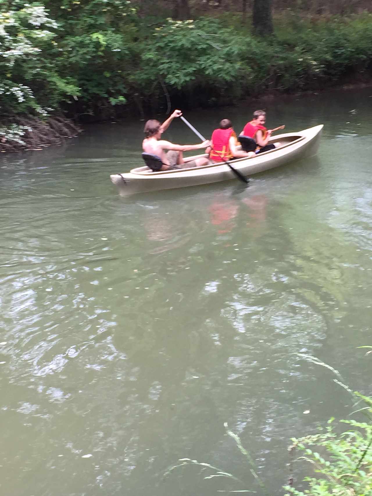
[[[370,85],[370,3],[3,0],[0,152],[180,105]]]

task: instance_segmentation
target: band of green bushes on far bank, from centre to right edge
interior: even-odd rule
[[[257,39],[224,19],[167,19],[141,49],[137,90],[199,92],[230,97],[265,89],[307,90],[334,84],[348,71],[368,71],[372,60],[372,16],[310,23],[284,21],[274,37]],[[151,81],[153,84],[151,84]]]

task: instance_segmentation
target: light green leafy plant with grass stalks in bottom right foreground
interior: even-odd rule
[[[362,346],[360,348],[372,348]],[[369,352],[370,353],[370,352]],[[351,415],[360,413],[364,415],[367,422],[356,420],[341,420],[342,424],[349,426],[345,432],[340,433],[334,428],[334,418],[331,418],[325,428],[319,428],[318,434],[311,434],[300,438],[292,438],[292,446],[288,449],[291,456],[296,450],[303,454],[297,461],[308,462],[315,476],[307,476],[303,479],[307,483],[308,489],[304,492],[298,491],[292,486],[285,486],[285,496],[372,496],[372,398],[361,393],[353,392],[345,383],[336,369],[322,362],[316,357],[304,354],[297,354],[308,362],[320,365],[333,372],[337,379],[333,379],[338,385],[348,391],[356,403],[363,401],[366,406],[352,412]],[[254,460],[242,445],[242,441],[237,434],[228,429],[225,423],[226,434],[232,437],[239,451],[244,455],[249,464],[249,471],[261,487],[261,494],[267,494],[265,486],[259,476],[254,464]],[[217,477],[228,478],[236,481],[244,487],[244,481],[238,479],[233,474],[221,470],[209,463],[198,462],[190,458],[181,458],[179,464],[170,467],[164,474],[169,475],[175,469],[186,465],[199,466],[200,473],[208,474],[204,479],[214,479]],[[255,493],[247,489],[235,491],[218,491],[221,493]]]

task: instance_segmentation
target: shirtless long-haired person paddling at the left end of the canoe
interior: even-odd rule
[[[198,158],[191,162],[185,162],[182,153],[189,150],[199,150],[200,148],[208,147],[210,145],[209,140],[203,141],[197,145],[176,145],[170,141],[160,139],[162,133],[169,127],[169,124],[171,124],[173,119],[181,116],[181,110],[175,110],[171,117],[163,124],[160,124],[160,122],[155,119],[151,119],[145,124],[143,132],[146,137],[142,141],[142,149],[145,153],[155,155],[159,159],[160,168],[156,169],[156,171],[201,167],[202,165],[207,165],[209,163],[207,158]]]

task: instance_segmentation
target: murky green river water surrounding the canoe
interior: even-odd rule
[[[2,495],[263,495],[225,422],[284,493],[290,438],[353,411],[306,356],[371,393],[371,107],[372,89],[273,101],[269,127],[324,124],[319,152],[246,189],[121,197],[109,175],[141,165],[137,120],[0,156]],[[210,136],[252,110],[185,117]],[[164,138],[197,142],[179,120]],[[244,484],[164,477],[179,458]]]

